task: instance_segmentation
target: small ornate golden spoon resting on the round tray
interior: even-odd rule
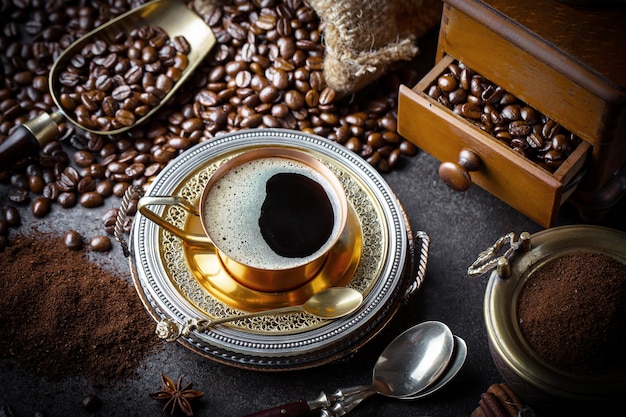
[[[363,302],[363,294],[354,288],[330,287],[313,294],[304,304],[274,308],[271,310],[256,311],[219,319],[191,319],[182,327],[177,323],[165,319],[157,325],[157,334],[168,342],[173,342],[179,336],[189,336],[192,330],[203,332],[217,324],[229,321],[245,320],[251,317],[266,316],[270,314],[284,314],[296,311],[304,311],[321,319],[337,319],[354,312]]]

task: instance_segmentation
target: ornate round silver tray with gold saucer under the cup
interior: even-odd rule
[[[330,265],[300,288],[259,292],[236,283],[210,254],[137,214],[130,234],[129,260],[137,292],[150,315],[181,325],[194,318],[219,318],[286,305],[298,305],[329,286],[349,286],[364,296],[354,313],[321,320],[304,312],[255,317],[193,331],[178,342],[217,362],[276,371],[335,361],[356,351],[391,320],[420,285],[428,251],[422,245],[413,277],[415,245],[404,211],[389,186],[366,161],[330,140],[282,129],[231,133],[189,149],[154,180],[146,195],[180,195],[194,202],[222,162],[267,146],[298,149],[322,161],[340,179],[352,220],[331,255]],[[181,228],[199,222],[176,207],[155,211]],[[334,258],[333,258],[334,256]]]

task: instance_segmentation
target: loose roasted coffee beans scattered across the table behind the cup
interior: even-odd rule
[[[56,110],[47,79],[65,48],[144,2],[0,3],[0,141],[41,112]],[[398,87],[414,85],[419,78],[411,65],[355,95],[338,97],[324,80],[323,26],[305,1],[235,0],[197,12],[213,29],[217,44],[172,99],[146,123],[124,133],[97,135],[62,123],[58,140],[38,155],[0,168],[0,183],[9,187],[12,205],[30,204],[38,217],[55,206],[99,207],[111,195],[123,196],[130,185],[149,183],[189,147],[240,129],[314,133],[343,144],[381,172],[417,153],[396,131]],[[112,46],[106,47],[111,52]],[[84,61],[93,60],[94,48],[104,45],[85,48]],[[82,58],[75,57],[72,65]],[[136,201],[129,215],[135,210]],[[117,209],[104,215],[106,232],[113,232],[116,216]],[[124,228],[130,226],[127,221]]]

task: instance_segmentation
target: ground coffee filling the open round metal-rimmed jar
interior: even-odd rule
[[[599,253],[557,258],[529,276],[518,313],[530,347],[558,368],[626,370],[626,264]]]

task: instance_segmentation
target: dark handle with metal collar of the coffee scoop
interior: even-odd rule
[[[60,113],[42,113],[18,126],[0,143],[0,170],[10,168],[20,159],[39,152],[58,135],[62,118]]]

